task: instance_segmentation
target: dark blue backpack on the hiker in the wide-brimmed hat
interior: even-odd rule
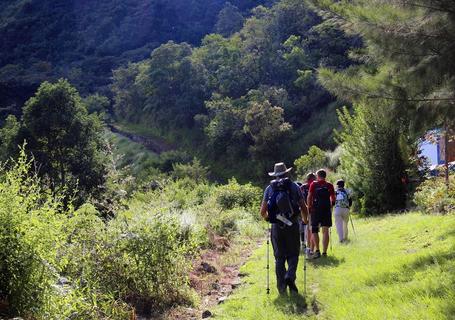
[[[283,223],[282,217],[291,222],[291,225],[292,222],[295,222],[299,207],[292,200],[292,184],[293,182],[289,178],[276,179],[270,182],[272,195],[267,201],[268,221],[270,223]]]

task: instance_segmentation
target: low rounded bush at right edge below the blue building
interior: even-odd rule
[[[414,194],[414,201],[423,211],[447,213],[455,211],[455,175],[450,177],[449,190],[444,178],[424,181]]]

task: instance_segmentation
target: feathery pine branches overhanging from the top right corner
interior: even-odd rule
[[[429,129],[454,127],[453,2],[315,2],[365,44],[352,54],[362,65],[320,70],[324,86],[350,101],[388,103],[415,140]]]

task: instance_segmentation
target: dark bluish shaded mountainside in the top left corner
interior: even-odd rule
[[[18,112],[40,82],[59,77],[84,93],[106,92],[113,68],[168,40],[198,45],[218,20],[231,24],[221,32],[237,31],[253,7],[269,2],[0,1],[0,107]]]

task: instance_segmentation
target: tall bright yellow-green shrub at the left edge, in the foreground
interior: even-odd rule
[[[0,182],[0,300],[12,315],[33,315],[52,294],[63,246],[59,199],[29,176],[24,151]]]

